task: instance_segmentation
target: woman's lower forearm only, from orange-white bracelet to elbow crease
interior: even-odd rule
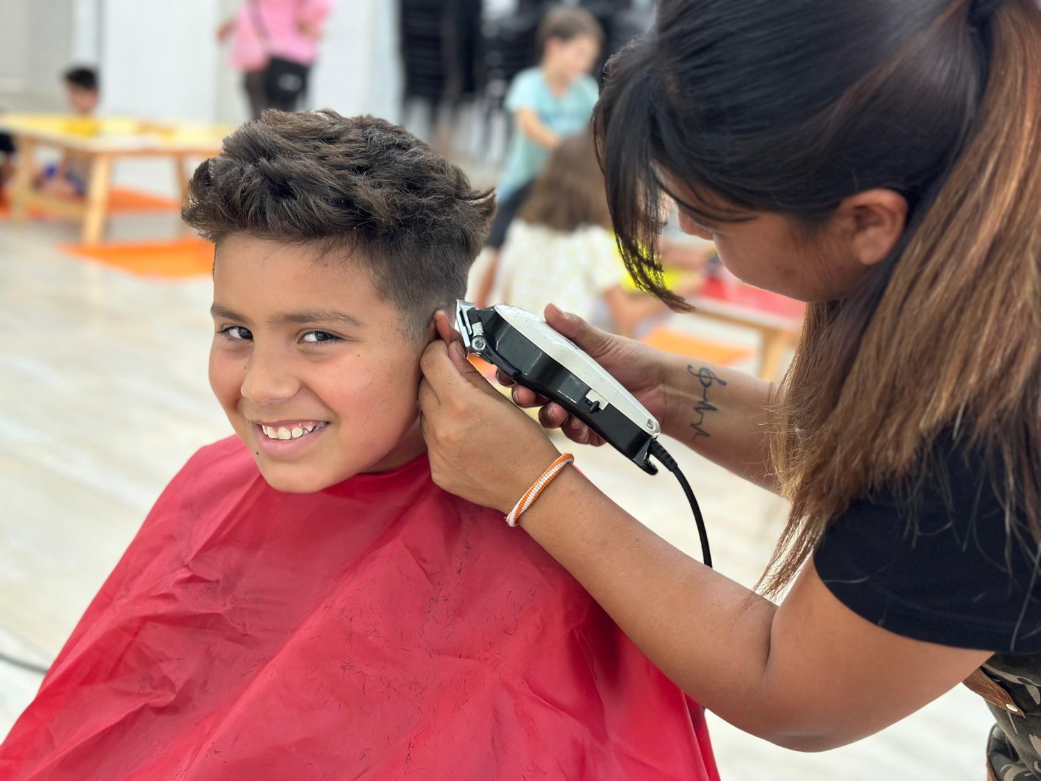
[[[575,470],[547,488],[522,527],[684,691],[776,739],[762,698],[772,603],[668,545]]]

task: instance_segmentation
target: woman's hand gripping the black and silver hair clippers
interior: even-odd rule
[[[545,307],[545,322],[555,330],[585,350],[589,356],[604,367],[631,393],[640,404],[648,408],[665,427],[668,417],[665,378],[666,368],[663,356],[657,350],[641,345],[634,339],[593,328],[582,318],[565,314],[553,304]],[[513,401],[520,407],[541,407],[538,420],[545,428],[562,429],[567,438],[580,445],[603,445],[604,440],[577,418],[556,403],[537,396],[533,391],[516,385],[509,377],[500,373],[499,382],[513,387]]]

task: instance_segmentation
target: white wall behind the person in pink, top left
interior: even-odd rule
[[[0,0],[0,108],[62,110],[60,74],[75,62],[99,66],[104,114],[237,124],[242,75],[215,32],[240,1]],[[338,0],[309,107],[397,121],[401,92],[398,3]]]

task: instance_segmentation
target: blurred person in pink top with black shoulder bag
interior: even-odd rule
[[[242,0],[218,29],[218,40],[231,41],[231,62],[243,72],[253,119],[265,108],[300,107],[333,2]]]

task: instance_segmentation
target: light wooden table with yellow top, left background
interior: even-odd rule
[[[18,147],[18,168],[9,192],[11,217],[24,220],[36,206],[82,222],[83,244],[97,244],[104,232],[112,165],[119,157],[169,157],[174,163],[183,200],[191,169],[188,160],[211,157],[233,128],[189,122],[149,122],[128,118],[83,118],[68,115],[0,115],[0,130],[10,133]],[[33,186],[39,171],[36,150],[51,147],[62,154],[88,160],[85,198],[61,198]]]

